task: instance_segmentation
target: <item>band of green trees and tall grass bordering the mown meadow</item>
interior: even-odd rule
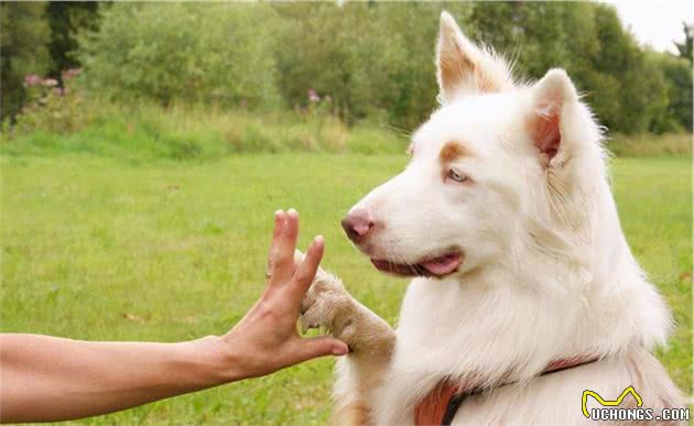
[[[3,133],[131,129],[139,150],[170,157],[398,150],[393,138],[436,107],[444,7],[519,77],[566,68],[600,122],[626,135],[610,142],[617,154],[690,149],[688,138],[653,146],[646,135],[692,131],[692,24],[670,22],[677,37],[654,51],[615,7],[588,2],[3,2]],[[152,146],[158,135],[170,146]]]

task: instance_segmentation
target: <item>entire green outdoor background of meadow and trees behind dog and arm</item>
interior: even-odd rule
[[[437,106],[445,9],[522,79],[566,68],[609,130],[622,227],[676,321],[658,357],[691,394],[694,26],[684,1],[615,4],[0,2],[0,330],[223,334],[290,207],[302,244],[323,233],[325,266],[397,324],[406,282],[339,220]],[[332,367],[84,422],[324,424]]]

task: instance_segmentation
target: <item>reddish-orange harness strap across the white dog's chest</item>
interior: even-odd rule
[[[574,367],[584,365],[598,360],[598,357],[573,357],[552,361],[539,375],[555,373]],[[497,387],[511,384],[501,383]],[[448,425],[455,417],[463,401],[470,395],[489,390],[464,382],[442,380],[414,407],[414,424],[416,426]]]

